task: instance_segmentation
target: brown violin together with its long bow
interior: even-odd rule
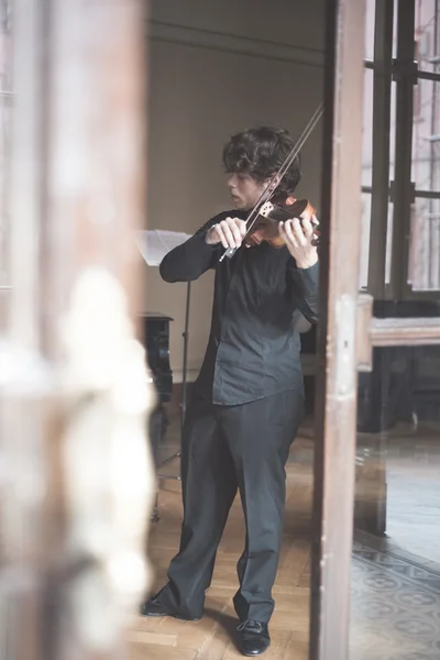
[[[287,154],[278,172],[274,174],[266,188],[261,194],[254,208],[250,211],[246,218],[246,234],[243,240],[243,244],[246,248],[260,245],[262,241],[267,241],[273,248],[283,248],[284,240],[278,231],[278,223],[280,221],[290,220],[293,218],[298,218],[299,220],[301,220],[301,218],[309,218],[315,224],[317,223],[314,218],[316,210],[307,199],[297,200],[294,197],[287,197],[285,200],[278,199],[275,201],[274,199],[273,202],[271,199],[274,197],[284,175],[320,120],[323,108],[322,103],[320,103],[297,142],[294,144],[292,151]],[[314,232],[312,245],[317,245],[318,241],[319,232],[316,230]],[[237,250],[238,248],[228,248],[219,261],[223,261],[226,256],[231,258]]]

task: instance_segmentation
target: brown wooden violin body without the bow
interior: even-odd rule
[[[244,237],[244,245],[252,248],[266,241],[272,248],[283,248],[285,245],[283,237],[278,231],[278,223],[293,218],[307,218],[315,226],[319,222],[315,218],[316,209],[308,199],[295,199],[287,197],[282,204],[272,204],[266,201],[258,210],[258,217],[253,224],[252,230]],[[312,245],[319,244],[319,231],[315,229],[311,241]]]

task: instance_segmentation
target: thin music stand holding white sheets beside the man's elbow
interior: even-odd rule
[[[186,234],[184,232],[175,232],[175,231],[165,231],[165,230],[148,230],[141,231],[138,235],[138,248],[144,257],[146,264],[148,266],[158,266],[164,258],[165,254],[167,254],[170,250],[185,243],[188,239],[191,238],[191,234]],[[183,370],[182,370],[182,403],[180,403],[180,443],[182,443],[182,435],[185,424],[186,416],[186,397],[187,397],[187,363],[188,363],[188,326],[189,326],[189,306],[190,306],[190,295],[191,295],[191,283],[187,283],[187,293],[186,293],[186,310],[185,310],[185,330],[182,334],[184,338],[184,354],[183,354]],[[170,457],[167,457],[165,460],[161,461],[157,464],[157,468],[162,468],[174,459],[180,458],[180,451],[176,451]],[[166,474],[166,473],[157,473],[160,479],[165,480],[176,480],[180,481],[180,475]]]

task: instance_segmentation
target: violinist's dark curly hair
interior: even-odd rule
[[[279,169],[295,142],[285,129],[256,127],[233,135],[223,147],[227,173],[249,174],[257,182]],[[295,158],[277,190],[292,195],[301,179],[300,156]]]

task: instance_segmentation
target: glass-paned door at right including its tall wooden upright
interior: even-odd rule
[[[410,184],[413,165],[408,148],[413,144],[408,99],[413,99],[414,82],[420,76],[407,43],[408,35],[411,40],[414,36],[416,7],[421,4],[398,3],[397,13],[392,1],[378,2],[375,8],[374,58],[372,65],[366,65],[373,69],[372,172],[367,176],[362,172],[365,53],[364,43],[359,38],[364,34],[367,13],[362,2],[328,3],[328,24],[334,33],[332,38],[329,28],[327,62],[333,66],[327,70],[324,118],[312,660],[432,660],[438,657],[435,631],[438,629],[436,617],[440,616],[439,600],[432,590],[433,573],[424,571],[428,564],[435,568],[436,505],[432,503],[440,503],[440,497],[433,474],[440,432],[432,419],[436,405],[432,402],[429,405],[429,397],[424,398],[421,394],[424,383],[436,381],[429,362],[440,344],[440,314],[432,307],[430,311],[427,307],[410,310],[407,307],[419,296],[408,270],[410,265],[414,274],[415,261],[409,258],[415,251],[409,250],[411,241],[416,241],[409,232],[414,206],[410,193],[413,190],[413,197],[417,193],[420,198],[431,199]],[[408,28],[409,6],[414,20]],[[393,34],[398,35],[395,44]],[[380,118],[377,122],[376,118]],[[395,143],[391,139],[394,121]],[[392,146],[395,157],[392,157]],[[429,167],[435,170],[433,165]],[[435,182],[429,167],[429,180]],[[369,270],[364,283],[360,282],[362,193],[370,195],[365,208],[371,209]],[[436,286],[432,285],[436,271],[432,263],[429,262],[428,268],[431,288]],[[430,292],[424,292],[420,301],[429,301],[426,294]],[[382,351],[378,367],[377,351]],[[393,351],[402,352],[397,374],[392,369],[396,359]],[[416,362],[415,353],[418,353]],[[408,361],[408,367],[402,366],[402,355]],[[375,387],[371,391],[378,399],[380,426],[370,432],[364,454],[360,452],[362,442],[356,438],[361,410],[358,370],[375,376],[378,386],[378,392]],[[406,415],[407,432],[405,435],[396,422],[395,438],[389,429],[383,428],[384,409],[389,410],[391,381],[407,393],[407,403],[402,399],[399,407],[404,417]],[[384,448],[387,455],[383,453]],[[407,460],[408,455],[411,461]],[[377,476],[384,461],[385,472]],[[370,484],[369,474],[372,475]],[[394,495],[387,501],[391,479]],[[353,516],[354,504],[358,508],[364,506],[361,516]],[[362,517],[367,519],[365,512],[371,515],[370,529],[359,524]],[[395,538],[394,546],[388,548],[387,525]],[[408,534],[408,530],[413,531]],[[418,556],[418,564],[414,559],[417,537],[419,550],[424,543],[429,548],[429,552]],[[405,543],[407,557],[404,560]],[[393,553],[398,544],[402,558]],[[393,570],[388,570],[391,565]],[[428,584],[427,590],[421,588],[422,580]],[[384,600],[381,594],[389,597]]]

